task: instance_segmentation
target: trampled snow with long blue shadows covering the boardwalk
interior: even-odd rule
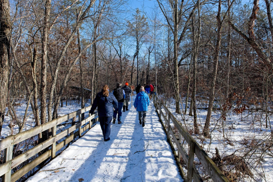
[[[109,141],[104,142],[97,123],[27,181],[183,181],[158,119],[151,101],[142,127],[129,105],[122,124],[111,125]]]

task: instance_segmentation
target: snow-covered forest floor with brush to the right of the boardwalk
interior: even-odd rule
[[[241,114],[236,114],[233,111],[235,107],[232,107],[227,113],[226,121],[222,121],[221,110],[216,109],[213,111],[211,117],[211,139],[206,139],[202,135],[207,115],[206,109],[197,110],[200,135],[194,135],[194,117],[189,116],[189,108],[186,115],[180,115],[175,113],[174,99],[164,100],[169,110],[204,148],[210,158],[217,159],[215,154],[216,148],[218,149],[221,158],[216,160],[218,164],[214,162],[218,166],[220,164],[225,171],[230,171],[229,179],[237,178],[238,181],[273,181],[273,146],[271,135],[273,118],[271,114],[269,114],[270,121],[268,121],[268,127],[266,128],[264,112],[251,112],[247,109]],[[185,109],[185,98],[182,99],[182,103]],[[198,107],[207,108],[203,103],[198,103]],[[182,118],[185,118],[185,122]],[[225,137],[223,137],[223,130]],[[181,143],[183,143],[183,139]],[[184,148],[188,148],[185,142]],[[199,166],[198,161],[195,164],[197,164],[196,167]],[[199,172],[202,173],[202,171],[202,167],[199,168]],[[246,177],[243,177],[245,174]]]

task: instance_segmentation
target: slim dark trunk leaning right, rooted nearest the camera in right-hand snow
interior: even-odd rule
[[[210,85],[210,97],[209,97],[209,107],[208,107],[208,113],[206,117],[206,122],[204,126],[204,136],[206,138],[210,138],[210,118],[211,118],[211,113],[212,113],[212,107],[214,103],[214,96],[215,96],[215,83],[216,83],[216,75],[217,75],[217,68],[218,68],[218,59],[219,59],[219,49],[220,49],[220,43],[221,43],[221,33],[222,33],[222,23],[221,23],[221,5],[222,1],[219,0],[218,2],[218,14],[217,14],[217,42],[216,42],[216,47],[215,47],[215,52],[214,52],[214,60],[213,60],[213,75],[212,75],[212,80],[211,80],[211,85]]]

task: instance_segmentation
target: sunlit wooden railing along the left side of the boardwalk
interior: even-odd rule
[[[23,131],[16,135],[10,135],[5,139],[0,140],[0,151],[4,150],[4,164],[0,166],[0,176],[2,176],[3,182],[14,182],[24,176],[26,173],[31,171],[37,165],[43,163],[45,160],[53,159],[60,149],[64,146],[69,144],[73,139],[76,137],[82,136],[83,132],[90,129],[91,126],[96,123],[98,118],[94,119],[97,116],[97,113],[94,115],[89,115],[86,119],[81,119],[81,114],[89,111],[91,106],[85,107],[78,111],[72,112],[68,115],[64,115],[59,117],[58,119],[53,119],[50,122],[41,124],[37,127],[31,128],[30,130]],[[56,134],[56,128],[59,124],[67,121],[68,119],[74,118],[79,116],[78,123],[75,125],[67,128],[64,131]],[[92,120],[93,119],[93,120]],[[25,151],[24,153],[16,156],[13,158],[13,148],[14,145],[27,140],[31,137],[35,137],[42,131],[46,131],[47,129],[52,130],[52,137],[48,140],[36,145],[35,147]],[[76,132],[73,132],[78,130]],[[72,133],[73,132],[73,133]],[[37,138],[37,136],[36,136]],[[56,142],[60,142],[56,145]],[[51,146],[51,149],[44,152],[44,149],[48,149]],[[29,162],[28,164],[24,165],[22,168],[18,169],[15,172],[11,172],[13,168],[17,167],[18,165],[22,164],[26,160],[30,159],[32,156],[37,155],[39,152],[43,151],[41,155],[37,158]]]

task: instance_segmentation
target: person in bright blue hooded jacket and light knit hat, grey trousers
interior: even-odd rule
[[[148,111],[148,106],[150,104],[150,99],[148,94],[145,93],[144,87],[140,87],[140,92],[136,95],[134,102],[134,107],[138,111],[139,123],[142,123],[142,127],[145,126],[146,112]]]

